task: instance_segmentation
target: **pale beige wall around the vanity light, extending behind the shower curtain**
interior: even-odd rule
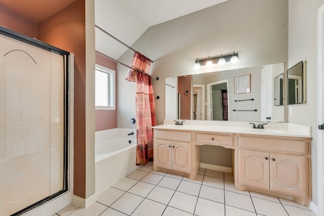
[[[238,68],[288,62],[288,0],[229,0],[219,5],[150,27],[132,47],[151,66],[157,124],[165,118],[166,77],[192,74],[196,58],[239,53]],[[134,52],[119,61],[130,65]],[[135,127],[135,84],[118,65],[118,127]],[[221,70],[233,69],[222,68]],[[214,69],[215,70],[215,69]],[[220,69],[216,69],[220,70]],[[211,72],[201,70],[195,73]],[[155,81],[155,77],[160,79]]]

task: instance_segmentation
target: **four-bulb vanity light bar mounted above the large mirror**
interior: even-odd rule
[[[233,54],[225,55],[225,56],[221,54],[220,57],[213,57],[213,58],[208,57],[208,59],[200,59],[200,60],[197,59],[192,70],[200,69],[199,61],[201,62],[201,65],[205,65],[206,68],[211,68],[216,63],[219,66],[224,66],[226,62],[230,62],[231,64],[239,63],[238,54],[233,52]]]

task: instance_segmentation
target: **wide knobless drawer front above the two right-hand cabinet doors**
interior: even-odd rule
[[[239,148],[266,150],[279,153],[303,155],[308,153],[307,142],[302,140],[272,139],[258,137],[238,137]]]

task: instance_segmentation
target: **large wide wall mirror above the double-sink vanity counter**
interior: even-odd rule
[[[166,78],[166,119],[284,122],[284,63]],[[278,93],[279,94],[279,93]],[[281,99],[278,99],[278,101]]]

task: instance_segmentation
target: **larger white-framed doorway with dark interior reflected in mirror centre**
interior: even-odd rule
[[[228,121],[228,80],[207,84],[208,115],[207,120]]]

